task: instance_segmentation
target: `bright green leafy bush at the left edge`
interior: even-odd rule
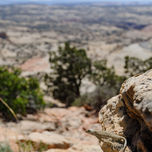
[[[18,69],[0,67],[0,97],[15,113],[25,115],[29,110],[40,109],[44,101],[38,81],[22,78],[20,73]],[[3,104],[0,104],[0,112],[4,118],[13,119]]]

